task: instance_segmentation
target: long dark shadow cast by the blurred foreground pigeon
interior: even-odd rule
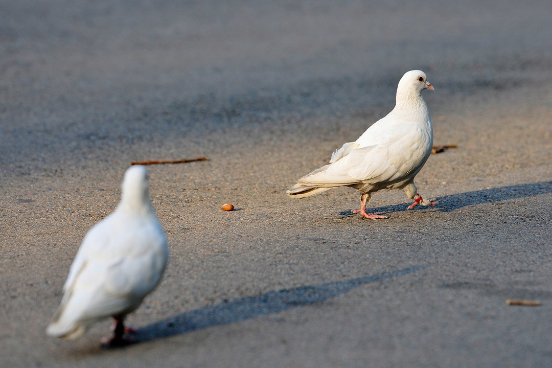
[[[425,266],[412,266],[390,272],[362,276],[343,281],[325,282],[293,289],[273,290],[257,296],[247,296],[232,301],[224,301],[213,306],[178,314],[163,321],[150,324],[137,330],[136,343],[145,343],[155,339],[170,337],[229,324],[246,319],[266,316],[291,308],[321,303],[356,287],[396,276],[404,276],[424,269]]]

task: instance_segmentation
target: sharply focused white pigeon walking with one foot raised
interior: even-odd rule
[[[354,142],[333,152],[330,164],[305,175],[286,191],[306,198],[336,188],[351,186],[360,191],[360,213],[367,218],[387,218],[368,214],[371,193],[381,189],[402,189],[417,204],[436,205],[417,193],[414,177],[431,154],[433,129],[429,110],[420,94],[435,90],[421,70],[406,72],[399,81],[395,108],[376,121]]]

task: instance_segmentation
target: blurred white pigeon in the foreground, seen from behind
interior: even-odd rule
[[[148,194],[147,170],[126,170],[115,211],[88,231],[63,285],[61,305],[46,333],[76,339],[101,319],[113,317],[110,345],[125,345],[123,325],[161,280],[168,248]]]

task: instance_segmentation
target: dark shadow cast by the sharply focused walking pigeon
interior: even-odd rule
[[[531,184],[518,184],[500,186],[499,188],[482,189],[467,191],[465,193],[457,193],[438,197],[439,202],[434,208],[439,212],[450,212],[458,210],[461,207],[478,205],[482,203],[492,203],[506,201],[516,198],[532,197],[540,194],[552,193],[552,181],[539,182]],[[378,215],[390,214],[392,212],[405,211],[410,204],[398,204],[392,206],[383,206],[370,209],[370,212],[375,212]],[[418,207],[415,207],[417,209]],[[424,208],[424,207],[420,207]],[[353,211],[342,211],[339,215],[343,217],[352,216]]]

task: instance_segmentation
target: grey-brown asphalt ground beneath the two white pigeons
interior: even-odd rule
[[[549,1],[2,1],[0,365],[552,366],[551,23]],[[417,177],[438,206],[285,196],[416,68],[458,145]],[[197,155],[149,167],[170,257],[139,343],[47,337],[130,162]]]

